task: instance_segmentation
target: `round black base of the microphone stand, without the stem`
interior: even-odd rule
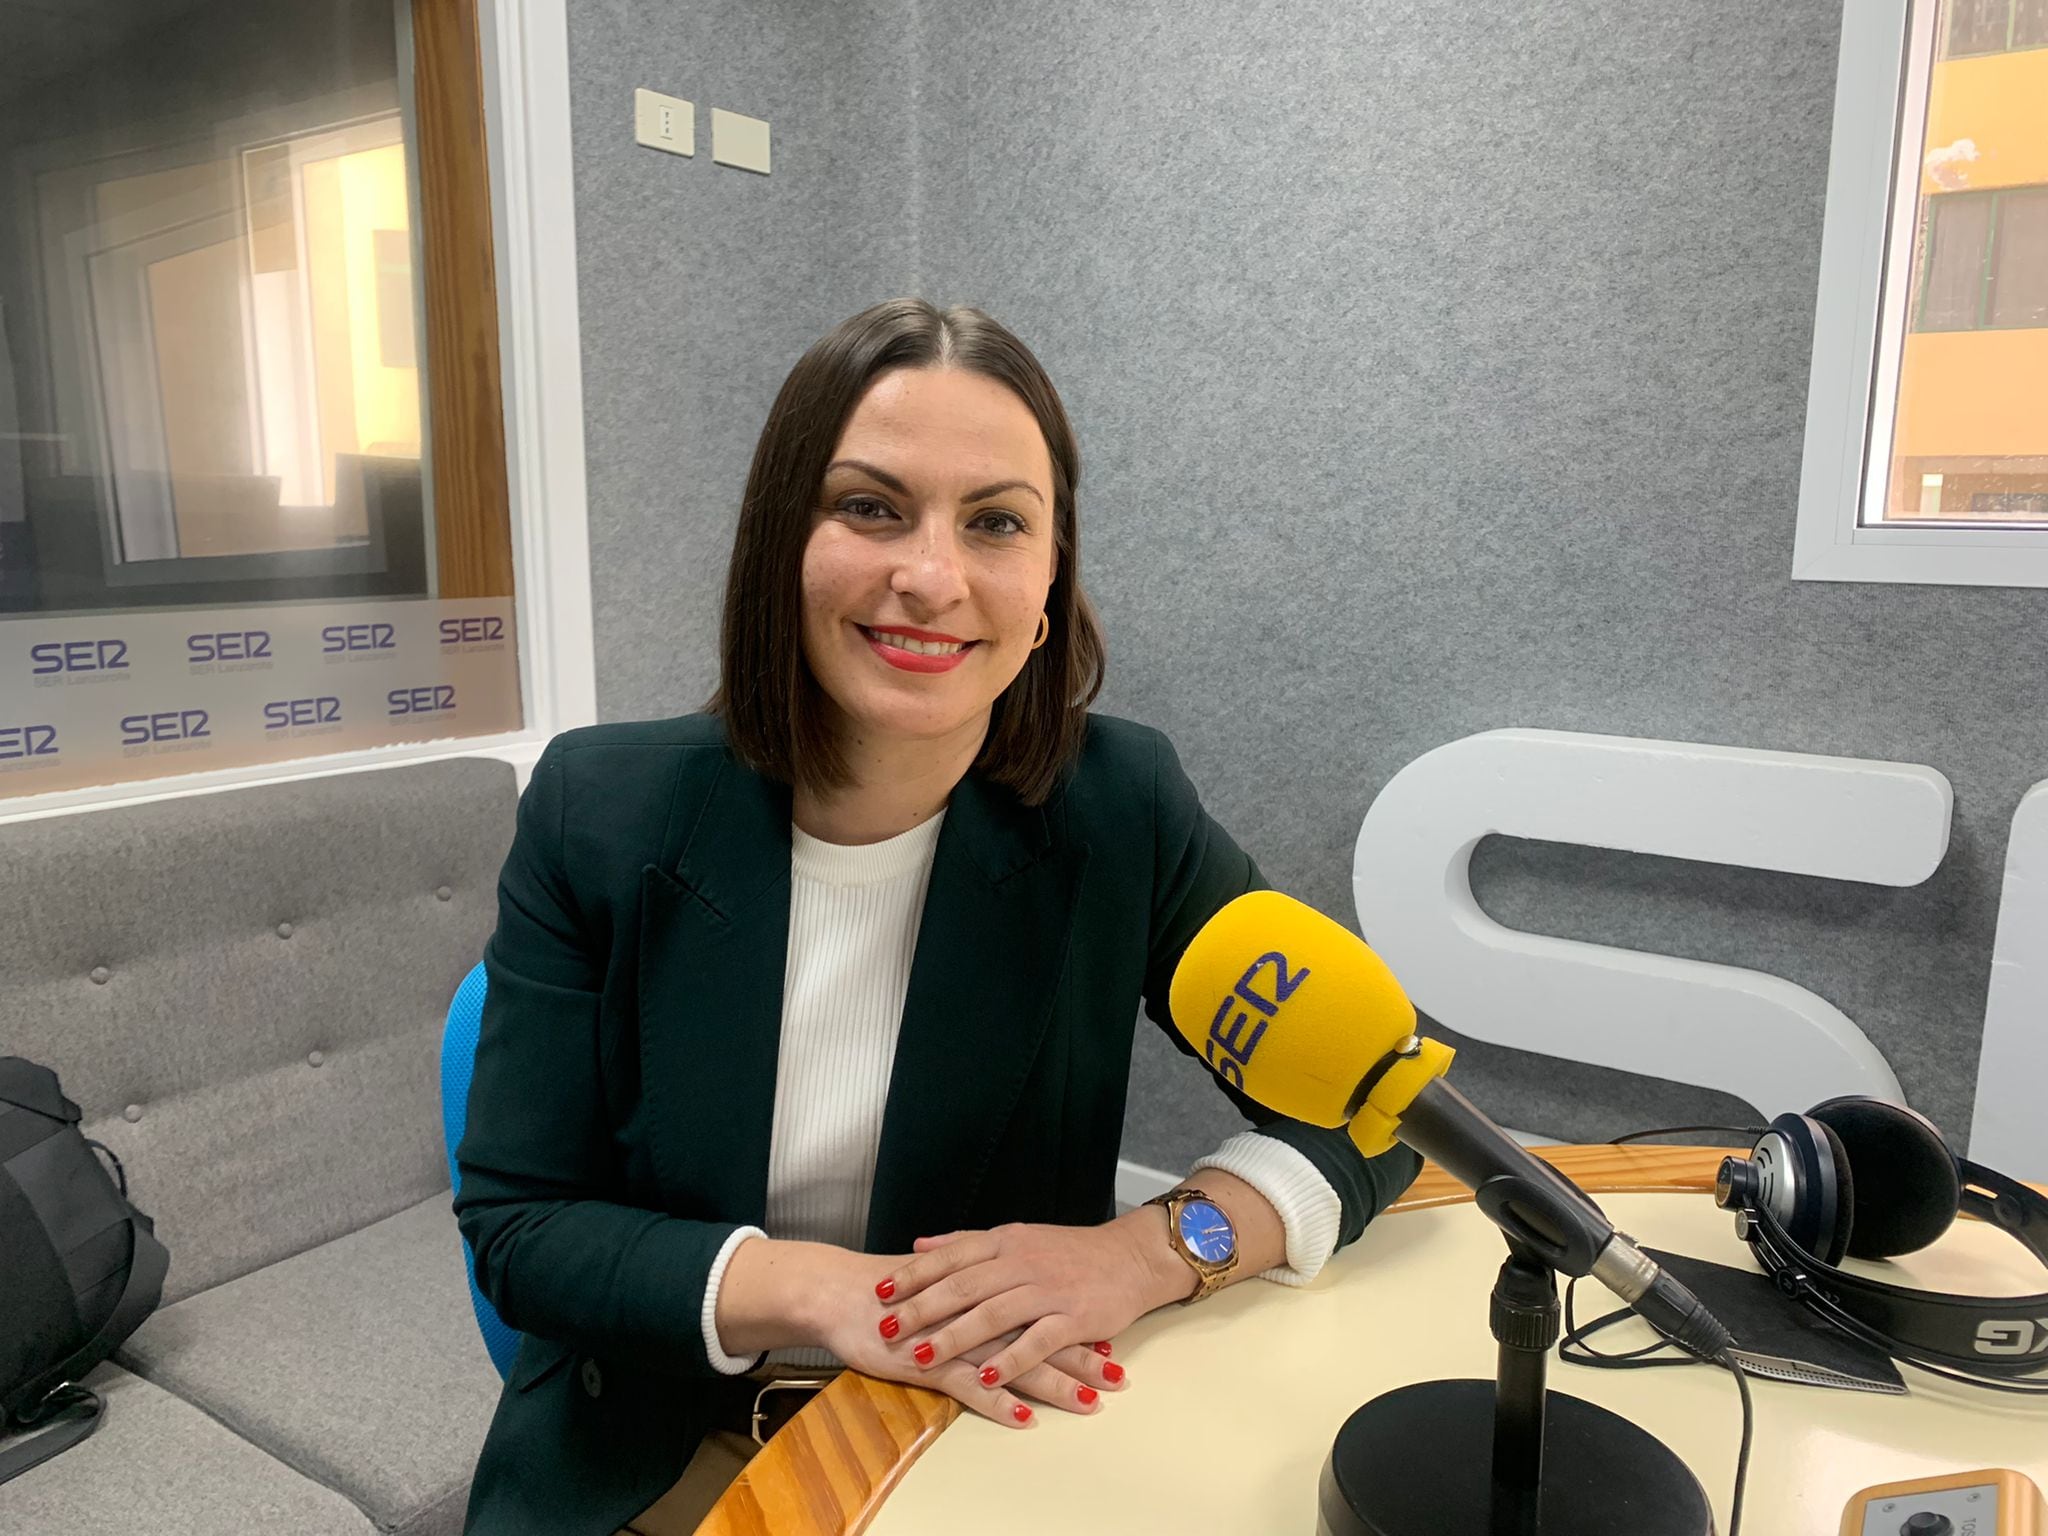
[[[1491,1380],[1382,1393],[1337,1430],[1317,1536],[1493,1532]],[[1507,1530],[1513,1530],[1509,1526]],[[1700,1479],[1655,1436],[1565,1393],[1544,1411],[1542,1499],[1526,1536],[1714,1536]]]

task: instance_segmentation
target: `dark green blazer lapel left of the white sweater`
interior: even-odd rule
[[[702,809],[641,870],[641,1094],[674,1214],[768,1214],[782,975],[788,788],[731,756]],[[676,858],[674,872],[668,858]]]

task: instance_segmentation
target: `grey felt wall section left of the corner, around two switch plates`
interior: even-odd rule
[[[590,563],[604,719],[694,709],[754,440],[840,319],[913,281],[909,0],[569,8]],[[696,104],[696,156],[633,141],[633,88]],[[711,160],[768,119],[770,176]]]

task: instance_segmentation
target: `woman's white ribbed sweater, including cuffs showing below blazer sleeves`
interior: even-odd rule
[[[750,1237],[858,1249],[868,1227],[874,1155],[889,1100],[889,1071],[903,1024],[918,922],[946,813],[874,844],[829,844],[791,827],[788,961],[768,1141],[768,1231],[737,1229],[705,1286],[705,1352],[727,1374],[756,1356],[719,1343],[725,1266]],[[1286,1227],[1286,1264],[1268,1280],[1307,1284],[1337,1243],[1337,1192],[1286,1143],[1241,1133],[1196,1167],[1219,1167],[1264,1194]],[[834,1366],[825,1350],[772,1350],[791,1366]]]

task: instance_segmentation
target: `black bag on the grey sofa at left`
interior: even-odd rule
[[[170,1270],[121,1159],[78,1118],[57,1073],[0,1057],[0,1436],[43,1432],[0,1448],[0,1483],[100,1427],[100,1395],[76,1382],[156,1311]]]

